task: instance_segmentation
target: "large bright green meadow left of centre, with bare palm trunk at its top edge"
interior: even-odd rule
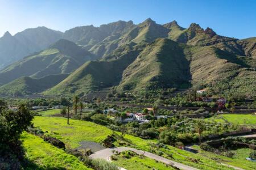
[[[70,120],[63,117],[35,117],[34,126],[43,131],[48,131],[52,137],[63,141],[67,147],[79,147],[79,142],[94,141],[101,142],[113,131],[104,126],[79,120]]]

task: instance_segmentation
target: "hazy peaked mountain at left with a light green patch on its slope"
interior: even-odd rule
[[[0,84],[21,76],[42,78],[52,74],[68,74],[89,60],[96,59],[85,49],[68,40],[59,40],[49,48],[27,56],[0,71]]]

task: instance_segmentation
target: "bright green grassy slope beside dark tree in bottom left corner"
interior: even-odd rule
[[[75,156],[66,154],[42,138],[24,132],[21,139],[26,148],[26,158],[31,162],[24,169],[90,169]]]

